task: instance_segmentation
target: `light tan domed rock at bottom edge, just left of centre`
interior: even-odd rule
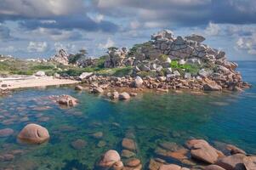
[[[119,156],[117,150],[108,150],[107,152],[105,152],[104,156],[101,157],[99,166],[100,167],[112,167],[115,163],[117,163],[119,161],[121,161],[121,157]],[[117,165],[120,166],[120,163],[117,163]],[[117,166],[117,167],[119,167],[119,166]]]

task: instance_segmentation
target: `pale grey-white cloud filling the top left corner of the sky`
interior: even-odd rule
[[[82,0],[1,0],[0,18],[44,18],[67,14],[82,13],[84,10]]]

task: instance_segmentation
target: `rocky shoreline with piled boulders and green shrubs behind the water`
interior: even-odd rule
[[[109,48],[107,55],[100,58],[82,58],[85,50],[67,54],[61,49],[50,59],[36,62],[43,63],[41,66],[48,70],[48,75],[81,81],[95,93],[102,93],[100,88],[115,87],[161,91],[242,91],[249,88],[250,84],[243,82],[242,75],[236,71],[238,65],[228,61],[224,51],[208,47],[204,40],[196,34],[174,37],[173,31],[163,30],[153,34],[151,41],[133,48]],[[40,65],[38,69],[29,73],[47,76]],[[2,84],[3,88],[5,86]]]

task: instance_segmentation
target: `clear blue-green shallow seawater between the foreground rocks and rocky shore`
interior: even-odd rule
[[[138,155],[144,164],[154,157],[162,141],[184,144],[191,137],[236,144],[256,154],[256,62],[240,62],[244,80],[253,88],[242,94],[147,93],[126,102],[111,102],[100,96],[78,93],[73,88],[28,89],[0,99],[0,129],[10,127],[14,135],[0,138],[0,155],[23,150],[13,161],[1,161],[3,167],[15,169],[92,169],[106,150],[121,150],[121,141],[134,133]],[[49,95],[71,94],[80,100],[72,109],[61,109],[48,100]],[[44,110],[42,106],[49,106]],[[28,117],[28,121],[26,118]],[[43,117],[43,118],[42,118]],[[16,135],[28,122],[48,128],[47,144],[26,145]],[[102,132],[102,139],[91,134]],[[71,142],[83,139],[87,145],[74,150]],[[99,147],[99,142],[105,146]]]

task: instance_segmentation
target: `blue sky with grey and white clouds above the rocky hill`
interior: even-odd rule
[[[256,60],[255,0],[0,0],[0,54],[48,58],[131,48],[169,29],[192,33],[228,59]]]

